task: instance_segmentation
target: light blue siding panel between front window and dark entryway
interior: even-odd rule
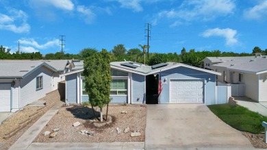
[[[131,103],[145,103],[145,77],[132,73],[131,81]]]

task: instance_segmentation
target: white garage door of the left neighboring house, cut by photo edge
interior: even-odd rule
[[[0,84],[0,112],[10,112],[10,84]]]

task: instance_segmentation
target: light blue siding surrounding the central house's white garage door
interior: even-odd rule
[[[165,82],[164,79],[166,78]],[[210,81],[207,82],[207,79]],[[170,79],[203,79],[204,90],[203,97],[204,103],[206,105],[211,105],[215,103],[215,75],[210,73],[205,73],[203,71],[197,71],[192,68],[186,68],[180,66],[178,68],[173,68],[168,71],[162,71],[162,93],[160,95],[160,103],[170,103],[170,89],[169,82]],[[208,94],[206,94],[208,92]]]

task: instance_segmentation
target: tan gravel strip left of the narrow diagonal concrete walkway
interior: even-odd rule
[[[29,129],[29,127],[31,127],[31,125],[33,125],[38,120],[38,118],[34,119],[23,129],[16,132],[14,136],[10,138],[3,138],[3,136],[16,129],[19,123],[21,123],[22,121],[26,121],[27,118],[29,118],[29,115],[36,113],[39,108],[41,107],[26,106],[23,111],[16,112],[0,125],[0,143],[2,143],[0,144],[1,150],[8,149],[14,142],[16,142],[16,140],[18,140],[21,135],[23,135],[25,131],[27,131],[27,129]]]

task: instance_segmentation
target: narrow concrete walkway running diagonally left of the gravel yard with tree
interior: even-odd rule
[[[55,105],[50,108],[44,115],[42,115],[34,125],[29,127],[27,131],[20,137],[14,144],[10,147],[12,149],[27,149],[31,142],[34,141],[36,136],[42,131],[45,125],[50,121],[50,119],[60,110],[63,105],[62,101],[58,101]]]

